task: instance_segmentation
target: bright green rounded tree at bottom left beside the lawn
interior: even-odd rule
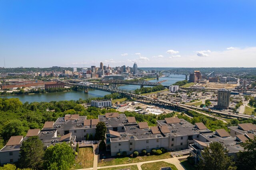
[[[73,149],[63,142],[46,149],[44,166],[47,170],[68,170],[75,162]]]

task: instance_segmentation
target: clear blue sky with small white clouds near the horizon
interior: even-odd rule
[[[255,0],[0,0],[0,67],[255,67]]]

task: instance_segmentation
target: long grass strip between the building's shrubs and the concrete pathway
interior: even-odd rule
[[[166,158],[171,158],[171,155],[169,152],[166,152],[161,155],[137,156],[136,158],[130,158],[131,159],[130,162],[128,162],[129,157],[116,158],[111,161],[100,162],[100,163],[98,163],[98,166],[129,164],[129,163],[144,162],[144,161],[149,161],[149,160],[159,160],[159,159],[166,159]]]

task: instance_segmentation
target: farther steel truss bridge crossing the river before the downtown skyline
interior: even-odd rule
[[[110,80],[101,80],[100,83],[108,83],[108,84],[124,84],[124,85],[140,85],[140,87],[146,86],[158,86],[160,83],[153,83],[146,80],[136,80],[136,81],[127,81],[127,80],[118,80],[118,79],[110,79]]]

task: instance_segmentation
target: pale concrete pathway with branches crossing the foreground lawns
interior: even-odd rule
[[[183,156],[183,157],[186,158],[188,156]],[[178,158],[180,159],[180,158],[183,158],[183,157],[178,157]],[[170,164],[174,164],[178,170],[185,170],[183,168],[183,166],[181,165],[180,161],[178,160],[178,158],[174,157],[174,158],[168,158],[168,159],[150,160],[150,161],[130,163],[130,164],[120,164],[120,165],[111,165],[111,166],[100,166],[100,167],[97,167],[98,155],[94,154],[93,168],[84,168],[84,169],[80,169],[80,170],[96,170],[96,169],[115,168],[115,167],[121,167],[121,166],[131,166],[131,165],[137,165],[138,169],[142,170],[141,169],[141,165],[142,164],[147,164],[147,163],[152,163],[152,162],[160,162],[160,161],[164,161],[164,162],[168,162]],[[97,160],[97,162],[95,160]]]

